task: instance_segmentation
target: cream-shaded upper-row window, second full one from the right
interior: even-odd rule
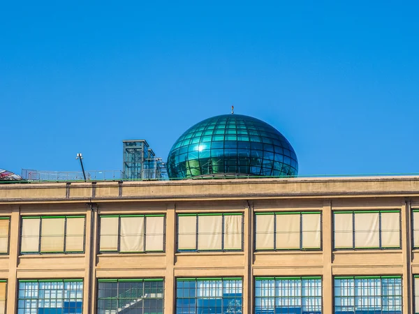
[[[321,250],[321,212],[258,212],[256,251]]]

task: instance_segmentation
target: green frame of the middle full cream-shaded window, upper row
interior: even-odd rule
[[[195,235],[195,249],[179,249],[179,216],[196,216],[196,235]],[[199,236],[199,216],[222,216],[221,221],[221,250],[200,250],[198,248],[198,236]],[[225,216],[242,216],[242,239],[241,239],[241,248],[224,248],[224,226],[225,226]],[[244,213],[243,212],[234,212],[234,213],[177,213],[176,214],[176,253],[194,253],[194,252],[243,252],[244,251]]]

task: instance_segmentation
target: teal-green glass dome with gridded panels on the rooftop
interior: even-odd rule
[[[241,114],[199,122],[175,142],[168,156],[170,179],[229,176],[295,176],[297,156],[284,135]]]

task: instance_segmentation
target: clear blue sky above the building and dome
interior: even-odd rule
[[[79,170],[82,152],[117,170],[137,138],[166,159],[233,104],[288,138],[300,174],[419,172],[418,16],[418,1],[3,1],[0,167]]]

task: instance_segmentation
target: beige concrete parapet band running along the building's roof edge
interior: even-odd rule
[[[419,197],[419,176],[1,184],[0,204]]]

